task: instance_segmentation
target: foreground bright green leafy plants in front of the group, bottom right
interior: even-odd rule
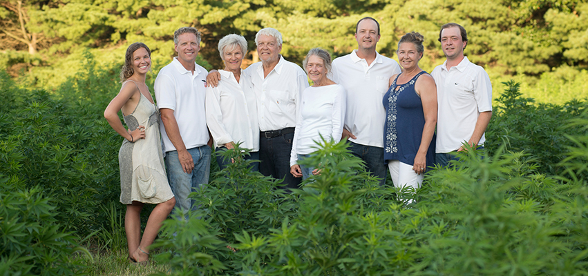
[[[582,121],[588,123],[587,114]],[[165,222],[164,234],[177,236],[160,241],[169,250],[160,260],[171,262],[171,275],[584,275],[588,269],[585,181],[540,174],[520,152],[500,148],[482,158],[470,150],[453,168],[430,172],[411,197],[356,174],[360,162],[345,148],[327,143],[305,160],[321,164],[321,175],[294,195],[276,193],[271,179],[241,173],[246,164],[223,170],[194,195],[200,210]],[[409,198],[417,203],[407,206]]]

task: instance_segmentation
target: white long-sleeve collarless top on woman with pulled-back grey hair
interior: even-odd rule
[[[302,92],[290,166],[296,165],[298,154],[307,155],[316,151],[318,145],[314,141],[321,141],[321,135],[327,141],[341,140],[347,101],[345,94],[345,88],[339,84],[311,86]]]

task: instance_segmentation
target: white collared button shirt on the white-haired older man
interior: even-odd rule
[[[308,87],[308,79],[300,66],[280,56],[276,67],[263,77],[261,61],[243,71],[251,77],[257,99],[259,130],[281,130],[296,127],[296,102]]]

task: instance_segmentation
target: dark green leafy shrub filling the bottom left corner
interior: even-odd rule
[[[61,230],[54,199],[16,182],[0,175],[0,275],[85,275],[76,254],[90,254]]]

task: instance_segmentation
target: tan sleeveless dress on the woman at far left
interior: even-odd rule
[[[138,139],[135,143],[124,139],[118,152],[122,204],[131,204],[132,201],[158,204],[173,197],[163,161],[160,113],[143,93],[140,95],[135,110],[123,117],[130,130],[144,126],[145,139]]]

